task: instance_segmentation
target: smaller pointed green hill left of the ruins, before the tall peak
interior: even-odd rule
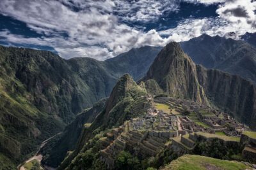
[[[77,141],[76,149],[65,158],[59,168],[65,169],[68,166],[69,169],[72,169],[72,166],[77,164],[77,162],[71,162],[71,160],[77,160],[81,156],[79,152],[83,153],[84,149],[90,146],[100,146],[93,144],[97,140],[97,136],[115,129],[124,124],[126,120],[145,115],[150,106],[151,103],[147,97],[146,90],[137,85],[129,74],[124,74],[113,88],[104,110],[95,118],[91,125],[84,127]],[[67,129],[69,128],[67,127]],[[99,150],[95,152],[97,154]],[[54,166],[55,164],[50,162],[47,165]]]

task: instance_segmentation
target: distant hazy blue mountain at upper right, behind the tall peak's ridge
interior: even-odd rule
[[[196,64],[236,74],[256,83],[256,48],[245,41],[203,34],[180,45]]]

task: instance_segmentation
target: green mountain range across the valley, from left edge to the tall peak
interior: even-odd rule
[[[9,158],[17,166],[77,113],[108,97],[120,75],[145,74],[157,49],[145,46],[98,61],[0,46],[0,161]],[[121,61],[127,64],[117,66]]]

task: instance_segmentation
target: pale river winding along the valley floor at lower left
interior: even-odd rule
[[[58,134],[60,134],[60,133],[58,133]],[[38,162],[40,162],[40,166],[42,167],[42,169],[44,169],[44,170],[56,170],[56,168],[53,168],[53,167],[42,166],[41,160],[43,159],[43,155],[40,154],[39,152],[40,152],[40,149],[43,148],[49,140],[51,140],[52,138],[54,138],[58,134],[55,134],[51,138],[48,138],[45,141],[43,141],[40,145],[40,148],[37,150],[36,154],[33,157],[26,160],[24,164],[26,164],[26,163],[30,162],[31,160],[35,159],[35,160],[38,160]],[[24,164],[22,164],[22,166],[19,165],[20,167],[18,166],[18,169],[19,170],[26,170],[25,167],[24,167]]]

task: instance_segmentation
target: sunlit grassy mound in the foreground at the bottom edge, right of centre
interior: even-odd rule
[[[200,155],[184,155],[176,160],[173,160],[164,168],[172,170],[206,170],[206,169],[226,169],[226,170],[241,170],[252,169],[241,162],[214,159]]]

